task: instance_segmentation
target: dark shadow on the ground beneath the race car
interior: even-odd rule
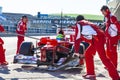
[[[14,69],[17,72],[26,72],[26,73],[48,73],[54,77],[57,78],[61,78],[61,79],[66,79],[66,78],[71,78],[71,75],[80,75],[80,73],[82,72],[81,68],[71,68],[71,69],[67,69],[67,70],[57,70],[57,71],[48,71],[47,68],[45,66],[43,67],[28,67],[28,68],[16,68]]]

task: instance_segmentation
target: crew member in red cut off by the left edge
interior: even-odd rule
[[[5,32],[3,26],[0,25],[0,32]],[[8,65],[5,59],[5,49],[3,48],[4,41],[0,38],[0,65]]]

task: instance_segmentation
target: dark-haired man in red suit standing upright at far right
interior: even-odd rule
[[[101,8],[102,14],[105,16],[106,24],[106,54],[117,69],[118,55],[117,55],[117,44],[118,44],[118,33],[120,32],[120,24],[117,18],[111,14],[107,6]]]

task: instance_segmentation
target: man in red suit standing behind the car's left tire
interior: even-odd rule
[[[19,54],[20,45],[24,41],[24,35],[25,32],[27,31],[27,22],[28,22],[27,16],[22,16],[22,19],[18,22],[17,30],[16,30],[18,34],[16,54]]]

